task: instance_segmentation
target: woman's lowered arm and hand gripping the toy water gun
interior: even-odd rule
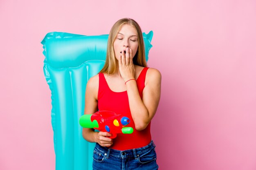
[[[85,114],[93,114],[98,111],[98,89],[99,89],[99,75],[90,78],[85,91]],[[108,132],[94,132],[94,129],[83,128],[83,138],[88,142],[97,142],[101,146],[111,146],[112,139]]]

